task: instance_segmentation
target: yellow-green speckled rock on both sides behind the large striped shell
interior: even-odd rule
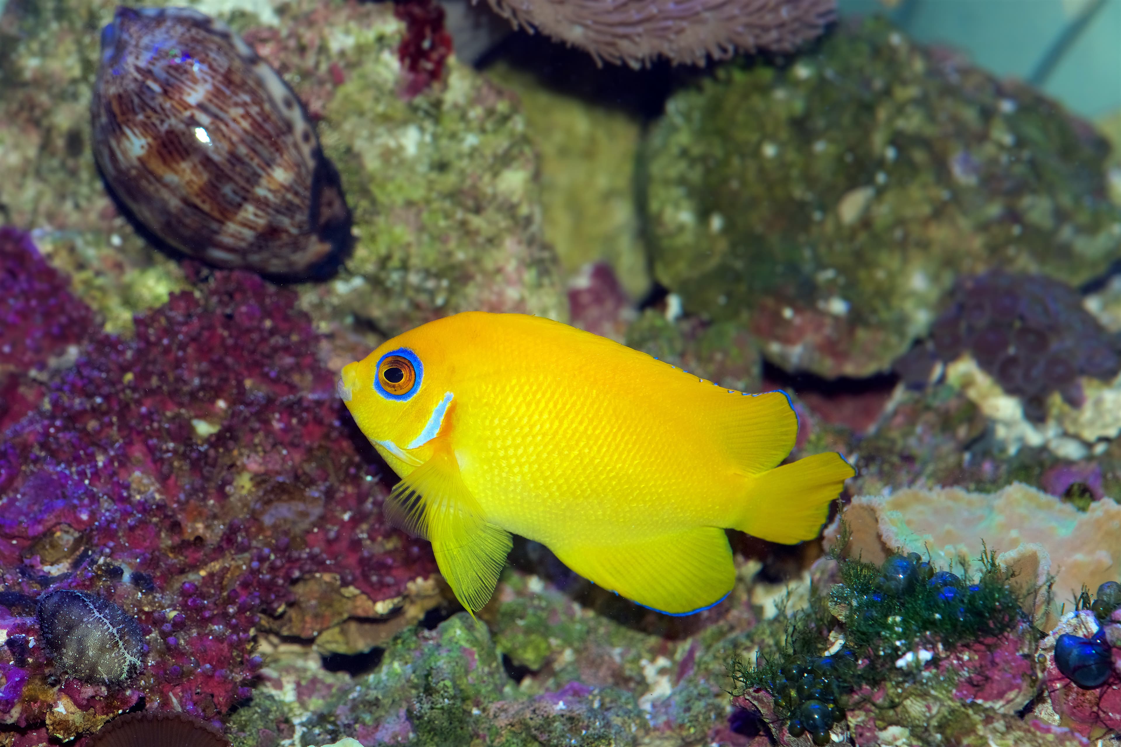
[[[117,4],[21,2],[4,12],[0,203],[6,222],[36,230],[106,329],[129,333],[135,312],[191,284],[118,213],[91,151],[101,53],[90,29]],[[341,172],[353,253],[332,282],[299,288],[319,329],[363,335],[369,348],[467,308],[566,315],[541,239],[538,160],[513,95],[448,58],[438,81],[402,96],[415,77],[399,54],[410,27],[391,3],[214,6],[304,103]],[[432,36],[429,26],[411,33]]]

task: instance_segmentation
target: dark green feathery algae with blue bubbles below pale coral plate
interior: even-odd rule
[[[846,544],[845,534],[842,526],[839,547]],[[969,648],[963,661],[976,658],[985,647],[1007,645],[1001,643],[1006,636],[1017,649],[1034,651],[1037,643],[1010,572],[988,551],[979,565],[975,574],[962,569],[963,577],[956,577],[936,573],[916,553],[891,556],[882,566],[840,561],[839,582],[818,590],[807,609],[788,618],[781,646],[761,653],[754,665],[740,658],[729,663],[731,694],[773,709],[790,736],[810,730],[802,726],[807,703],[825,703],[834,723],[908,725],[972,744],[967,737],[983,734],[981,725],[994,713],[975,712],[972,699],[957,692],[965,675],[939,662],[961,646]],[[909,570],[896,575],[896,569]],[[1012,693],[1025,685],[1023,676],[1008,676]],[[915,713],[923,718],[916,721]],[[817,732],[814,743],[824,741],[827,732]]]

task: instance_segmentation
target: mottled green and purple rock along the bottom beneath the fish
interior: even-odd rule
[[[252,703],[231,716],[234,745],[296,725],[312,745],[767,744],[724,691],[730,657],[782,635],[784,620],[757,625],[744,569],[716,608],[669,618],[573,578],[534,544],[515,555],[546,575],[508,568],[478,621],[460,612],[402,631],[369,671],[270,657]]]

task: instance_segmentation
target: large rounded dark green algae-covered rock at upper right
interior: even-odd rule
[[[787,67],[717,71],[645,147],[656,279],[787,370],[887,370],[958,275],[1077,285],[1121,247],[1102,138],[883,20]]]

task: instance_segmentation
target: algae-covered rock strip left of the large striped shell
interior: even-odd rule
[[[131,333],[133,313],[187,283],[113,209],[90,150],[99,30],[115,6],[20,3],[0,18],[0,222],[34,229],[105,330]]]

